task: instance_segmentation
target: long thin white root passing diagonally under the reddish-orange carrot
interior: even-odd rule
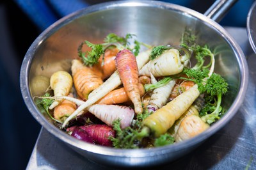
[[[150,50],[146,50],[145,52],[141,52],[137,57],[136,57],[136,61],[137,61],[137,65],[138,65],[138,69],[140,69],[143,65],[145,65],[148,60],[149,60],[149,54],[151,52]],[[110,91],[112,91],[113,89],[117,88],[118,86],[120,86],[120,84],[122,84],[120,77],[118,75],[118,72],[115,71],[110,77],[109,79],[107,79],[103,84],[101,84],[99,86],[99,88],[95,89],[92,91],[92,93],[90,93],[88,100],[86,100],[86,102],[84,102],[83,105],[81,105],[80,107],[78,107],[78,109],[76,111],[74,111],[68,118],[67,120],[64,121],[62,127],[65,127],[68,123],[68,121],[72,120],[72,118],[76,117],[77,114],[79,114],[79,112],[83,111],[84,109],[86,109],[87,107],[89,107],[90,105],[93,105],[95,102],[97,102],[98,100],[100,100],[100,98],[104,97],[105,95],[107,95]]]

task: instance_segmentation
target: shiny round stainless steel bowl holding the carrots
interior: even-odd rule
[[[207,44],[216,54],[216,72],[230,85],[223,99],[227,113],[209,130],[182,143],[160,148],[119,150],[84,143],[52,125],[38,111],[31,91],[31,79],[50,77],[57,70],[70,72],[70,61],[77,58],[77,46],[83,40],[100,43],[108,33],[136,39],[150,45],[179,45],[186,27],[198,33],[198,43]],[[170,162],[188,153],[220,130],[236,114],[248,84],[248,68],[243,52],[228,33],[204,15],[175,4],[157,1],[116,1],[97,4],[72,13],[46,29],[31,45],[20,71],[20,88],[34,118],[52,135],[86,158],[113,166],[152,166]]]

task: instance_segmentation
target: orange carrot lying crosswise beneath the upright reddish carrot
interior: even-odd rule
[[[143,96],[145,93],[144,86],[139,83],[140,96]],[[97,104],[122,104],[128,102],[130,98],[125,92],[124,88],[115,89],[108,93],[105,97],[101,98]]]

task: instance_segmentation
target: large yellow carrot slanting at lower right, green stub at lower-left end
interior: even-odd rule
[[[151,132],[156,137],[164,134],[172,127],[173,123],[188,110],[199,95],[198,86],[195,84],[195,86],[188,89],[188,91],[185,91],[171,102],[161,107],[161,109],[150,114],[150,116],[143,121],[143,125],[150,128]]]

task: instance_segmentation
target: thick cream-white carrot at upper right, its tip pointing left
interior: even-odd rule
[[[182,72],[183,68],[184,64],[180,61],[179,50],[170,49],[143,66],[139,75],[150,76],[150,73],[155,77],[174,75]]]

